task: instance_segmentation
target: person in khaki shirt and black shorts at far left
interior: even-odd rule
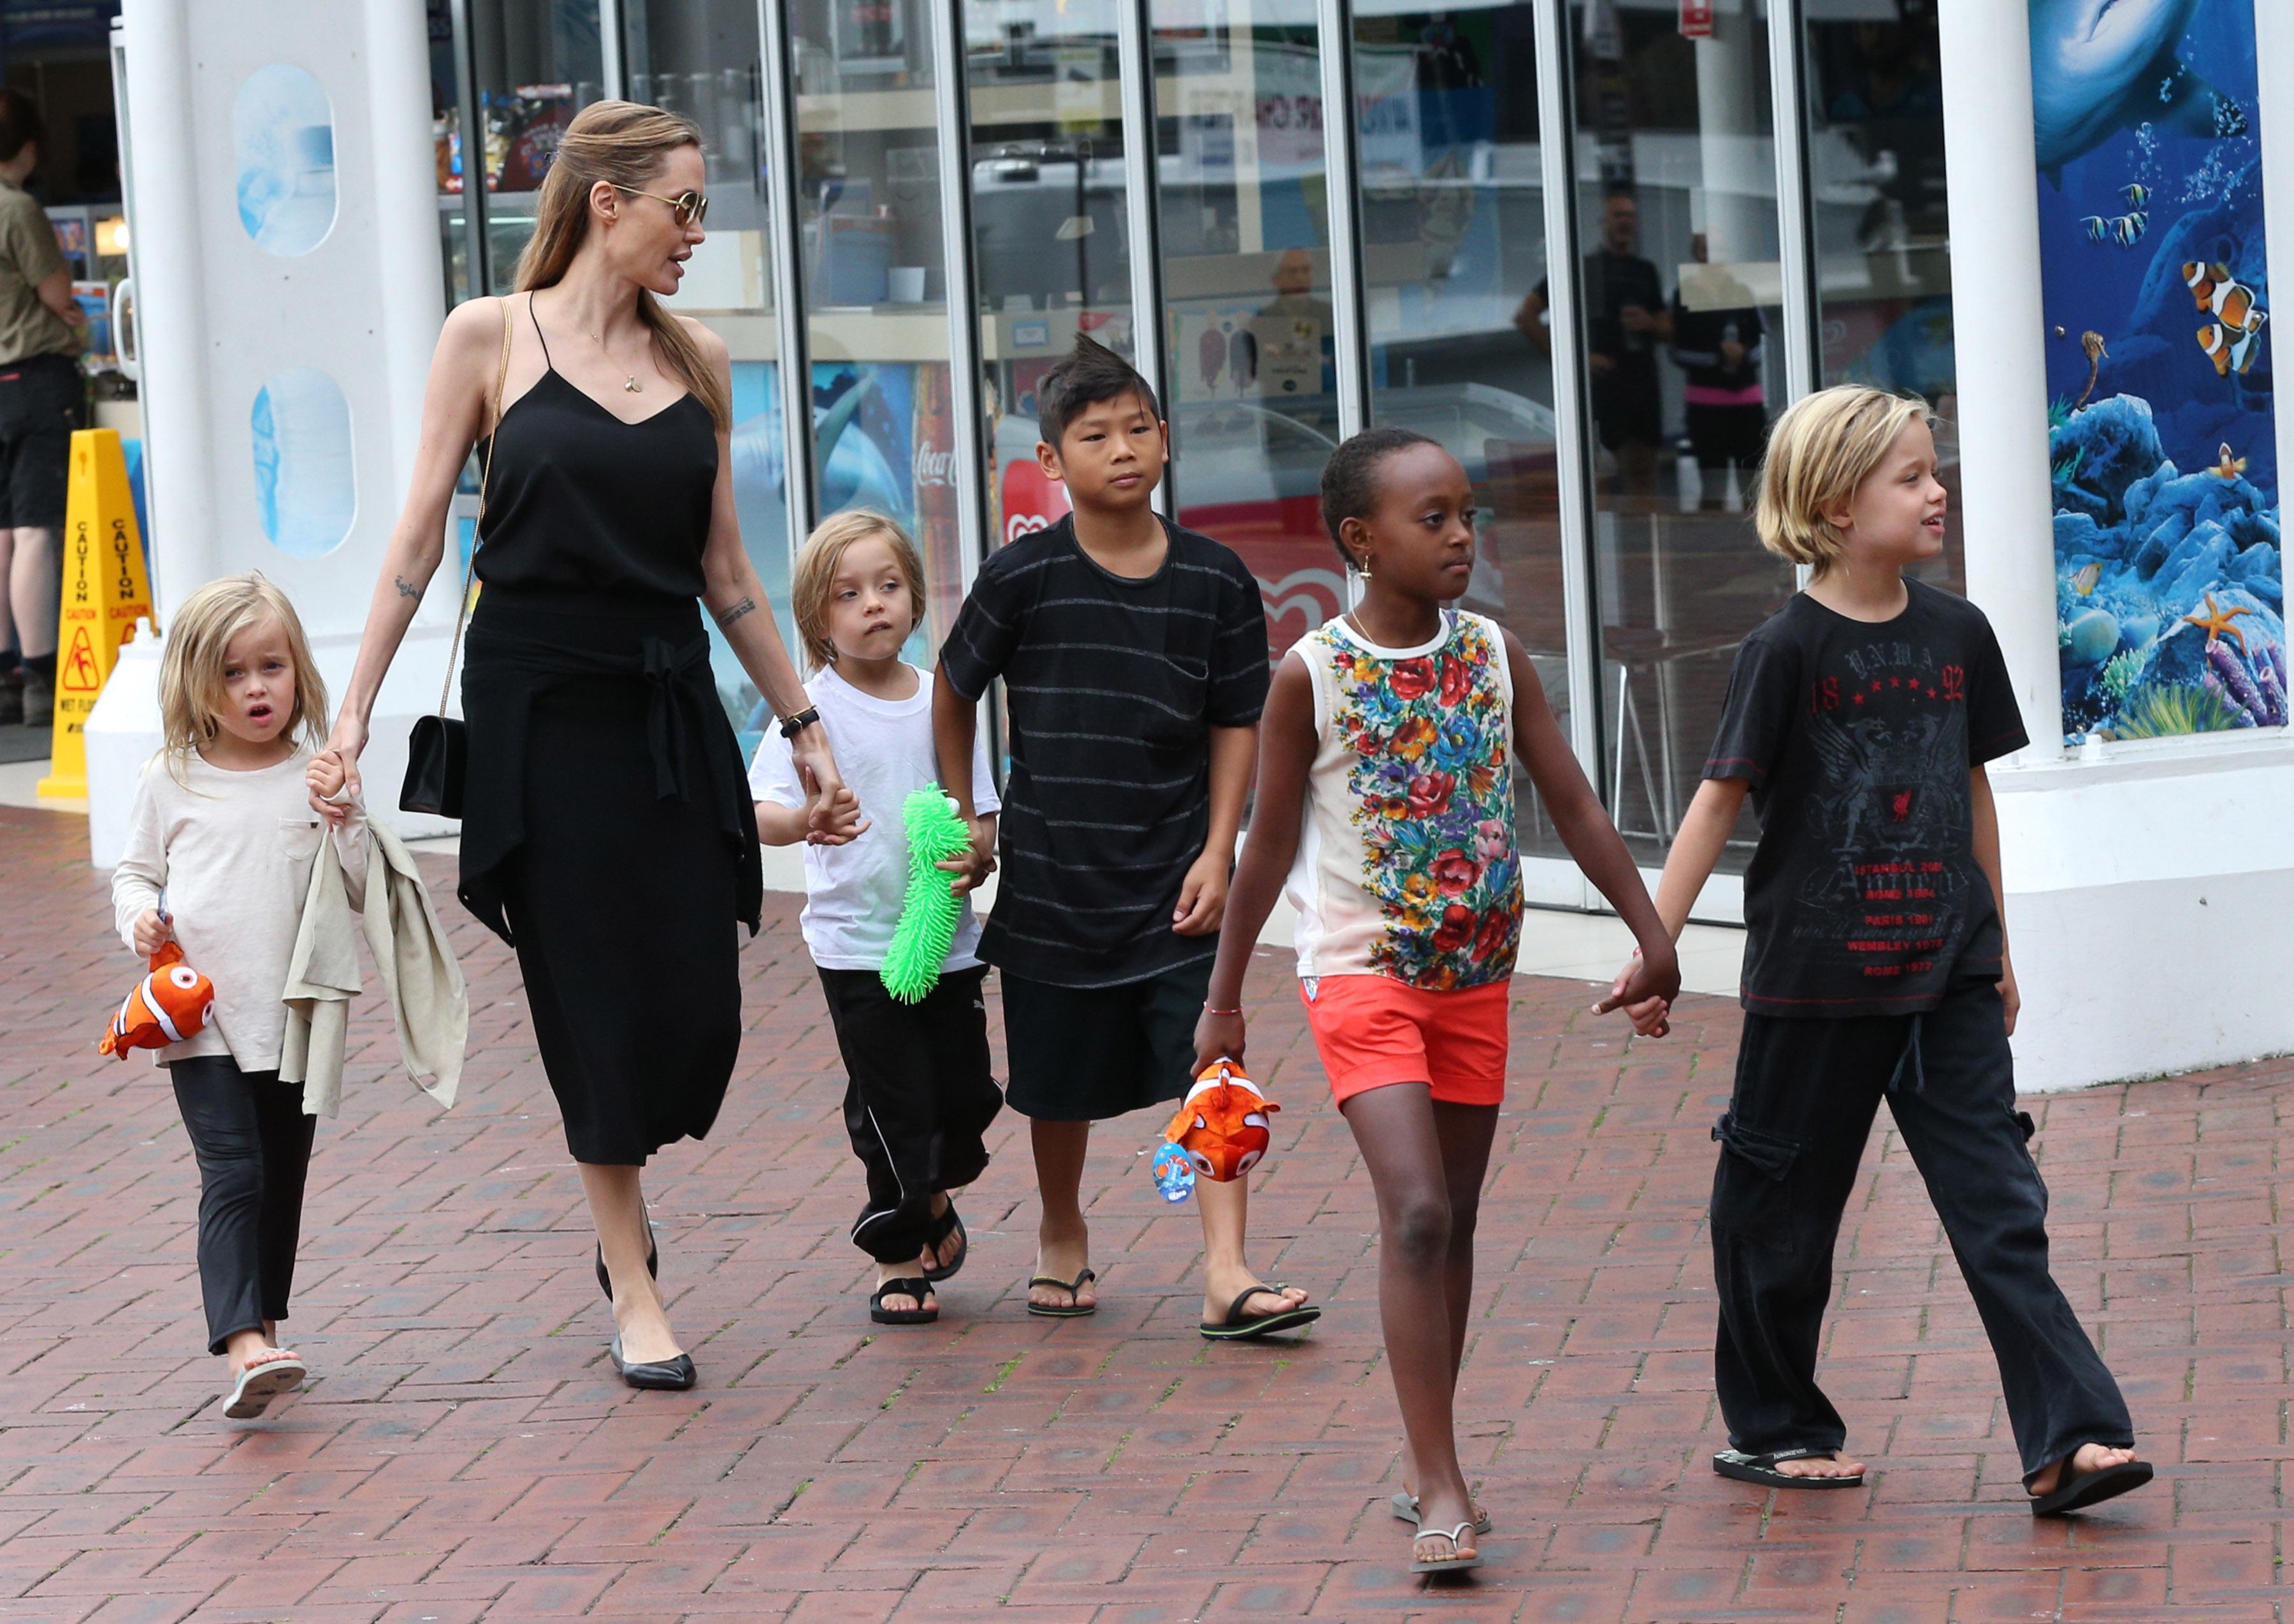
[[[80,427],[80,328],[48,211],[23,188],[48,138],[39,108],[0,89],[0,725],[55,711],[57,537]]]

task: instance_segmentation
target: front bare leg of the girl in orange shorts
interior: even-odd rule
[[[1457,1463],[1452,1397],[1457,1365],[1450,1312],[1450,1184],[1434,1099],[1425,1083],[1372,1087],[1342,1108],[1379,1197],[1379,1321],[1402,1404],[1402,1431],[1418,1473],[1420,1528],[1470,1523]],[[1496,1117],[1496,1112],[1491,1112]],[[1473,1532],[1461,1535],[1473,1551]],[[1422,1532],[1418,1560],[1450,1555],[1448,1535]]]

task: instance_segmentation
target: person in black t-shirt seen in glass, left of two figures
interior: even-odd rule
[[[1514,326],[1542,356],[1553,353],[1546,298],[1539,280],[1514,312]],[[1670,342],[1665,284],[1640,257],[1640,204],[1617,188],[1601,204],[1601,245],[1585,255],[1585,372],[1594,434],[1617,459],[1617,489],[1631,495],[1656,489],[1656,447],[1665,438],[1656,349]]]

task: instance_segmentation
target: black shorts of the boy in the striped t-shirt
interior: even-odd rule
[[[1106,1122],[1179,1099],[1195,1080],[1195,1021],[1209,991],[1211,954],[1122,986],[1053,986],[1005,970],[1005,1103],[1037,1122]]]

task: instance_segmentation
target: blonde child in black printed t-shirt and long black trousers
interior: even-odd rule
[[[1778,420],[1759,539],[1815,573],[1737,654],[1656,892],[1679,936],[1750,794],[1743,1046],[1714,1126],[1714,1363],[1730,1427],[1714,1470],[1776,1489],[1863,1482],[1815,1372],[1833,1241],[1886,1094],[1991,1337],[2030,1507],[2053,1516],[2138,1489],[2152,1468],[2046,1266],[1984,778],[2026,736],[1982,610],[1904,580],[1943,551],[1943,507],[1922,401],[1835,388]],[[1663,1034],[1663,1005],[1629,1014]]]

